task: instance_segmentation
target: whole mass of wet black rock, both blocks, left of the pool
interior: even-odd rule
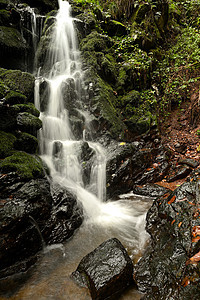
[[[26,271],[44,244],[63,242],[83,220],[76,198],[46,178],[0,177],[0,278]]]

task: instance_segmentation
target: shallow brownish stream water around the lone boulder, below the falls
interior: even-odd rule
[[[122,203],[129,202],[138,220],[129,237],[120,234],[121,231],[117,231],[117,228],[109,229],[108,226],[104,227],[86,220],[66,243],[45,247],[39,254],[36,265],[26,273],[1,280],[0,299],[91,300],[89,290],[80,288],[70,275],[76,270],[83,256],[111,237],[116,237],[122,242],[133,263],[136,263],[148,241],[145,215],[152,199],[133,194],[122,195],[120,198],[118,201]],[[137,289],[132,287],[126,290],[119,300],[137,300],[141,299],[141,296]]]

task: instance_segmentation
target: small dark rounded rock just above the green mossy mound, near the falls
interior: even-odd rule
[[[21,132],[17,133],[17,139],[14,142],[16,150],[25,151],[34,154],[38,150],[38,140],[33,135]]]

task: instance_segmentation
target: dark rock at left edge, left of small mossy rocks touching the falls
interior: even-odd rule
[[[12,131],[16,128],[16,119],[19,113],[18,107],[1,106],[0,109],[0,130]]]

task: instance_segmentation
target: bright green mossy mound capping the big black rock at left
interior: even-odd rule
[[[44,177],[42,162],[39,157],[19,151],[0,162],[2,173],[16,172],[21,179],[30,180]]]

